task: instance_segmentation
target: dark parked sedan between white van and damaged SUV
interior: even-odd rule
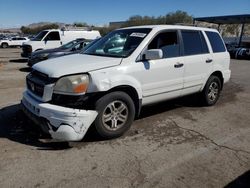
[[[60,46],[59,48],[33,52],[28,60],[28,66],[32,67],[34,64],[46,59],[79,53],[90,42],[91,40],[76,39]]]

